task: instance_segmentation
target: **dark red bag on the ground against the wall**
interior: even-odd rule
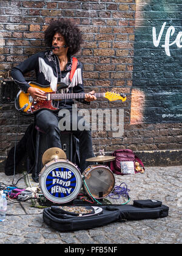
[[[136,162],[138,166],[140,166],[140,168],[138,169],[143,169],[144,171],[144,165],[143,162],[140,160],[140,158],[136,157],[136,155],[133,153],[132,150],[130,149],[118,149],[116,151],[114,151],[112,153],[112,155],[115,158],[115,160],[113,160],[112,162],[110,162],[110,169],[113,173],[118,174],[118,175],[123,175],[123,173],[121,172],[121,162],[133,162],[133,168],[135,170],[135,172],[138,172],[136,169]]]

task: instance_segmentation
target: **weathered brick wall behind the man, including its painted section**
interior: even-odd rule
[[[100,99],[89,107],[90,113],[91,108],[124,110],[123,135],[116,137],[106,127],[93,131],[94,151],[104,148],[109,154],[119,148],[129,148],[138,152],[146,165],[156,165],[159,152],[163,152],[161,165],[180,163],[181,49],[180,43],[178,47],[173,44],[168,56],[162,47],[169,26],[174,26],[175,38],[181,31],[180,1],[14,0],[0,1],[0,7],[0,76],[11,79],[8,75],[13,66],[43,49],[44,30],[52,18],[70,18],[83,33],[84,44],[77,57],[84,66],[85,90],[127,93],[126,102]],[[164,22],[166,27],[156,47],[152,27],[158,38]],[[170,43],[175,38],[170,38]],[[32,80],[33,73],[26,77]],[[1,97],[0,105],[2,163],[15,144],[17,126],[13,96],[7,98]],[[162,118],[168,114],[178,116]],[[32,117],[19,117],[18,140],[32,121]]]

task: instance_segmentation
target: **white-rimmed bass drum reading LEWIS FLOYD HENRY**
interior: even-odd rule
[[[72,201],[81,190],[81,172],[69,160],[53,160],[42,168],[39,186],[49,201],[64,204]]]

